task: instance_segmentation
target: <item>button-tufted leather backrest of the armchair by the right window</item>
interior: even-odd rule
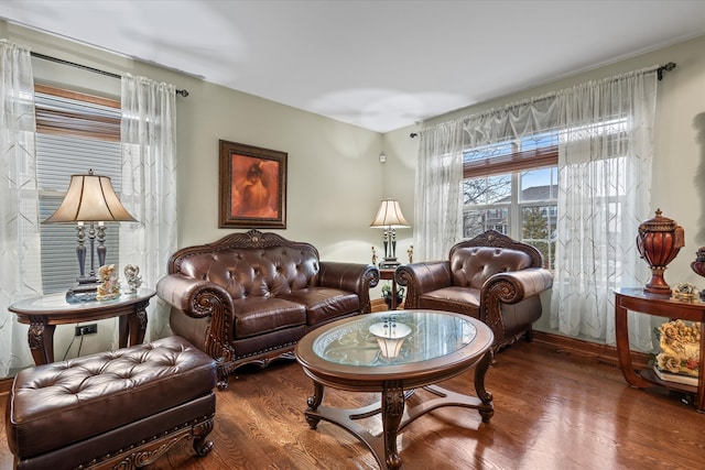
[[[530,267],[531,256],[519,250],[494,247],[459,248],[451,253],[453,285],[480,289],[490,276]]]

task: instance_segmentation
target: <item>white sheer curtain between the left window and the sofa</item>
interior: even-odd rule
[[[121,201],[139,221],[120,227],[121,266],[138,265],[154,288],[176,251],[176,102],[173,85],[122,78]],[[147,340],[170,334],[169,308],[153,297]]]

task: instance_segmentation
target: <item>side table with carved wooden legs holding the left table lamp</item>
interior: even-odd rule
[[[8,309],[21,324],[29,325],[28,342],[36,365],[54,362],[54,330],[56,325],[120,317],[119,345],[124,348],[139,345],[147,331],[147,306],[156,294],[141,288],[137,295],[122,295],[110,300],[90,300],[79,304],[66,302],[64,293],[43,295],[12,304]]]

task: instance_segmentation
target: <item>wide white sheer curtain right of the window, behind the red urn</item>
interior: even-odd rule
[[[653,217],[657,73],[585,84],[564,97],[551,326],[614,345],[614,289],[648,280],[636,237],[639,223]],[[651,350],[652,318],[631,315],[633,347]]]

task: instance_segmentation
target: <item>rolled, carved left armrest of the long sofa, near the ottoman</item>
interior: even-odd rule
[[[194,345],[212,358],[228,362],[234,351],[234,305],[228,292],[208,281],[169,274],[156,283],[156,295],[180,313],[193,318],[210,317],[205,345]]]

